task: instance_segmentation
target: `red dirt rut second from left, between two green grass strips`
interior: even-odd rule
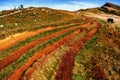
[[[49,36],[45,36],[39,40],[36,40],[36,41],[33,41],[29,44],[26,44],[24,46],[22,46],[20,49],[12,52],[10,55],[8,55],[5,59],[1,60],[0,61],[0,70],[2,70],[4,67],[8,66],[9,64],[13,63],[14,61],[18,60],[23,54],[25,54],[26,52],[28,52],[29,50],[31,50],[32,48],[34,48],[35,46],[37,46],[38,44],[41,44],[42,42],[45,42],[47,40],[50,40],[54,37],[57,37],[58,35],[61,35],[61,34],[64,34],[68,31],[71,31],[73,29],[77,29],[77,28],[80,28],[80,27],[85,27],[89,25],[88,24],[84,24],[82,26],[75,26],[75,27],[72,27],[72,28],[69,28],[69,29],[66,29],[66,30],[62,30],[60,32],[56,32],[52,35],[49,35]]]

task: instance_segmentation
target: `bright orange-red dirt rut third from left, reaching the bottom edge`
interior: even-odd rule
[[[81,27],[87,27],[87,26],[91,26],[91,23],[84,24],[84,25],[82,25]],[[79,27],[79,28],[80,28],[80,27]],[[48,46],[48,47],[45,48],[43,51],[40,51],[40,52],[38,52],[38,53],[35,53],[36,55],[33,56],[33,57],[31,57],[31,58],[29,59],[29,62],[26,63],[26,65],[25,65],[26,67],[25,67],[25,66],[22,66],[21,68],[17,69],[17,70],[14,72],[13,76],[11,76],[9,79],[10,79],[10,80],[12,80],[12,79],[14,79],[14,80],[19,79],[19,78],[21,77],[21,75],[23,74],[23,72],[26,71],[26,70],[34,63],[34,61],[36,61],[36,60],[39,59],[41,56],[43,56],[43,55],[45,55],[45,54],[47,54],[47,53],[51,53],[53,50],[57,49],[57,48],[60,47],[61,45],[65,44],[65,43],[68,43],[68,42],[70,41],[70,38],[71,38],[72,36],[75,36],[75,34],[78,34],[79,32],[80,32],[80,31],[77,31],[77,32],[75,32],[74,34],[71,34],[71,35],[69,35],[69,36],[67,36],[67,37],[65,37],[65,38],[63,38],[63,39],[55,42],[52,46]],[[39,53],[41,53],[41,54],[39,54]],[[38,56],[37,56],[37,55],[38,55]],[[44,59],[43,59],[43,60],[44,60]],[[41,62],[40,62],[40,63],[41,63]],[[31,74],[32,72],[34,72],[35,69],[36,69],[36,67],[34,67],[33,69],[31,69],[28,74]],[[21,72],[19,73],[19,71],[21,71]],[[18,73],[19,73],[19,74],[18,74]],[[30,75],[29,75],[29,76],[30,76]]]

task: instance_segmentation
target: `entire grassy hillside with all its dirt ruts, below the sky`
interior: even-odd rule
[[[119,80],[120,16],[100,9],[1,11],[0,80]]]

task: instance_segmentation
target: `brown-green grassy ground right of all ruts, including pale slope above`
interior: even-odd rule
[[[106,6],[116,12],[120,9],[112,3],[103,7]],[[120,79],[120,16],[103,11],[103,7],[78,11],[81,15],[100,21],[103,27],[76,56],[74,80]],[[108,18],[113,18],[114,23],[108,23]]]

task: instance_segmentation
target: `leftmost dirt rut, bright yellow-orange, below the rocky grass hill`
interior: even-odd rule
[[[22,32],[22,33],[16,33],[14,35],[6,37],[3,40],[0,40],[0,51],[6,50],[9,47],[12,47],[13,45],[15,45],[15,44],[17,44],[17,43],[19,43],[19,42],[21,42],[21,41],[23,41],[23,40],[25,40],[29,37],[38,35],[38,34],[43,33],[45,31],[54,30],[54,29],[57,29],[57,28],[65,27],[65,26],[71,26],[71,25],[74,25],[74,24],[75,23],[71,23],[71,24],[61,25],[61,26],[56,26],[56,27],[51,26],[51,27],[39,29],[37,31],[25,31],[25,32]],[[80,23],[78,23],[78,24],[80,24]]]

